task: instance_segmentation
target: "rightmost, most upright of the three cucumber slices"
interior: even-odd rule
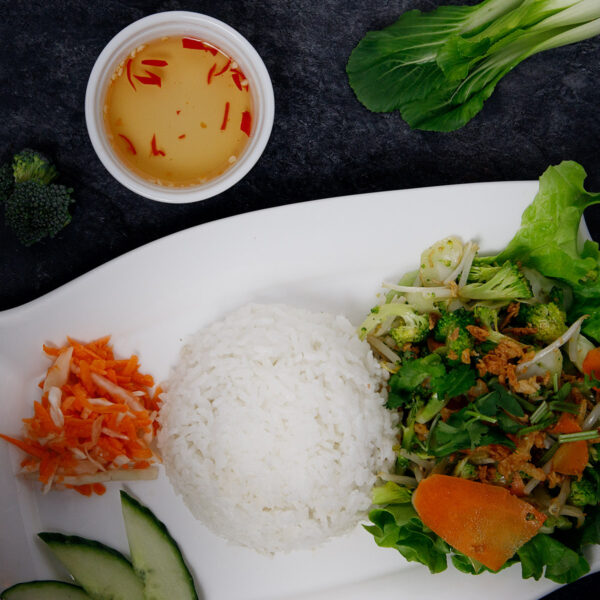
[[[164,523],[123,491],[121,508],[131,562],[144,580],[144,598],[198,600],[192,574]]]

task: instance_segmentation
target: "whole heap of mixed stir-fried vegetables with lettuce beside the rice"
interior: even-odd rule
[[[598,196],[584,176],[575,163],[548,169],[496,257],[434,244],[360,329],[399,417],[396,469],[381,474],[367,529],[432,572],[450,555],[470,573],[520,561],[524,577],[565,583],[589,570],[583,546],[600,543],[600,348],[585,327],[599,316],[600,254],[576,240]],[[572,263],[586,268],[576,282]],[[394,335],[406,315],[426,331]]]

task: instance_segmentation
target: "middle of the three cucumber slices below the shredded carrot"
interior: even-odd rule
[[[94,600],[144,600],[144,584],[120,552],[74,535],[38,535]]]

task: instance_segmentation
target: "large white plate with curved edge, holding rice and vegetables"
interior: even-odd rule
[[[482,252],[503,248],[537,190],[535,182],[424,188],[333,198],[208,223],[109,262],[22,307],[0,313],[0,431],[17,434],[48,366],[42,343],[66,335],[112,335],[117,354],[139,354],[143,371],[165,378],[187,335],[247,302],[285,302],[343,313],[359,323],[381,282],[418,265],[421,252],[456,234]],[[61,531],[127,552],[118,485],[102,497],[45,496],[14,476],[19,453],[0,444],[0,589],[66,578],[36,539]],[[272,558],[227,544],[195,521],[163,472],[129,489],[179,542],[206,600],[374,597],[539,598],[556,587],[498,575],[431,576],[380,549],[358,527],[311,552]],[[594,565],[597,566],[597,556]],[[490,585],[493,582],[493,585]]]

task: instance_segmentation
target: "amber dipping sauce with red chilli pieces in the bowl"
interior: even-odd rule
[[[248,143],[248,80],[234,58],[208,42],[154,40],[118,66],[104,123],[131,171],[159,185],[199,185],[230,168]]]

